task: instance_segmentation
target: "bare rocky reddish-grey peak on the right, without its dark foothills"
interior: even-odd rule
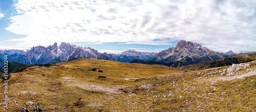
[[[220,60],[229,55],[223,55],[219,52],[211,51],[206,47],[202,47],[198,43],[181,40],[175,48],[169,48],[159,52],[152,61],[160,61],[163,63],[170,63],[176,61],[187,61],[195,64],[203,61]]]

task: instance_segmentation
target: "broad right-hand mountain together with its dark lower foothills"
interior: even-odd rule
[[[170,47],[160,51],[150,62],[135,60],[132,63],[153,64],[153,62],[160,62],[160,64],[163,63],[162,65],[179,67],[205,61],[221,60],[235,55],[237,54],[231,50],[225,53],[215,52],[206,47],[202,47],[202,45],[198,43],[181,40],[176,47]]]

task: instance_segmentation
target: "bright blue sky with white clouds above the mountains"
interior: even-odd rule
[[[256,51],[252,0],[0,0],[0,49],[68,42],[99,52],[159,52],[180,40]]]

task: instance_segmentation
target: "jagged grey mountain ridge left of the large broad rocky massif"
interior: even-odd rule
[[[62,42],[59,46],[57,43],[49,45],[48,47],[39,45],[32,47],[27,52],[23,50],[3,50],[3,52],[4,51],[9,51],[9,61],[14,61],[26,65],[66,62],[75,58],[91,58],[119,62],[131,62],[135,59],[148,60],[156,55],[156,53],[139,52],[135,50],[127,50],[121,54],[108,54],[106,52],[100,53],[91,47],[80,47],[65,42]]]

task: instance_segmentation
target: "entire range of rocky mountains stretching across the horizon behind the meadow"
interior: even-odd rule
[[[125,63],[162,64],[172,67],[215,61],[238,55],[231,50],[225,53],[211,51],[198,43],[184,40],[179,41],[176,47],[170,47],[159,53],[139,52],[136,50],[127,50],[121,54],[100,53],[91,47],[80,47],[65,42],[62,42],[59,46],[57,43],[48,47],[39,45],[27,51],[0,50],[0,55],[4,55],[4,53],[9,54],[9,62],[18,62],[26,65],[66,62],[75,58],[90,58]],[[3,60],[3,57],[0,59]]]

